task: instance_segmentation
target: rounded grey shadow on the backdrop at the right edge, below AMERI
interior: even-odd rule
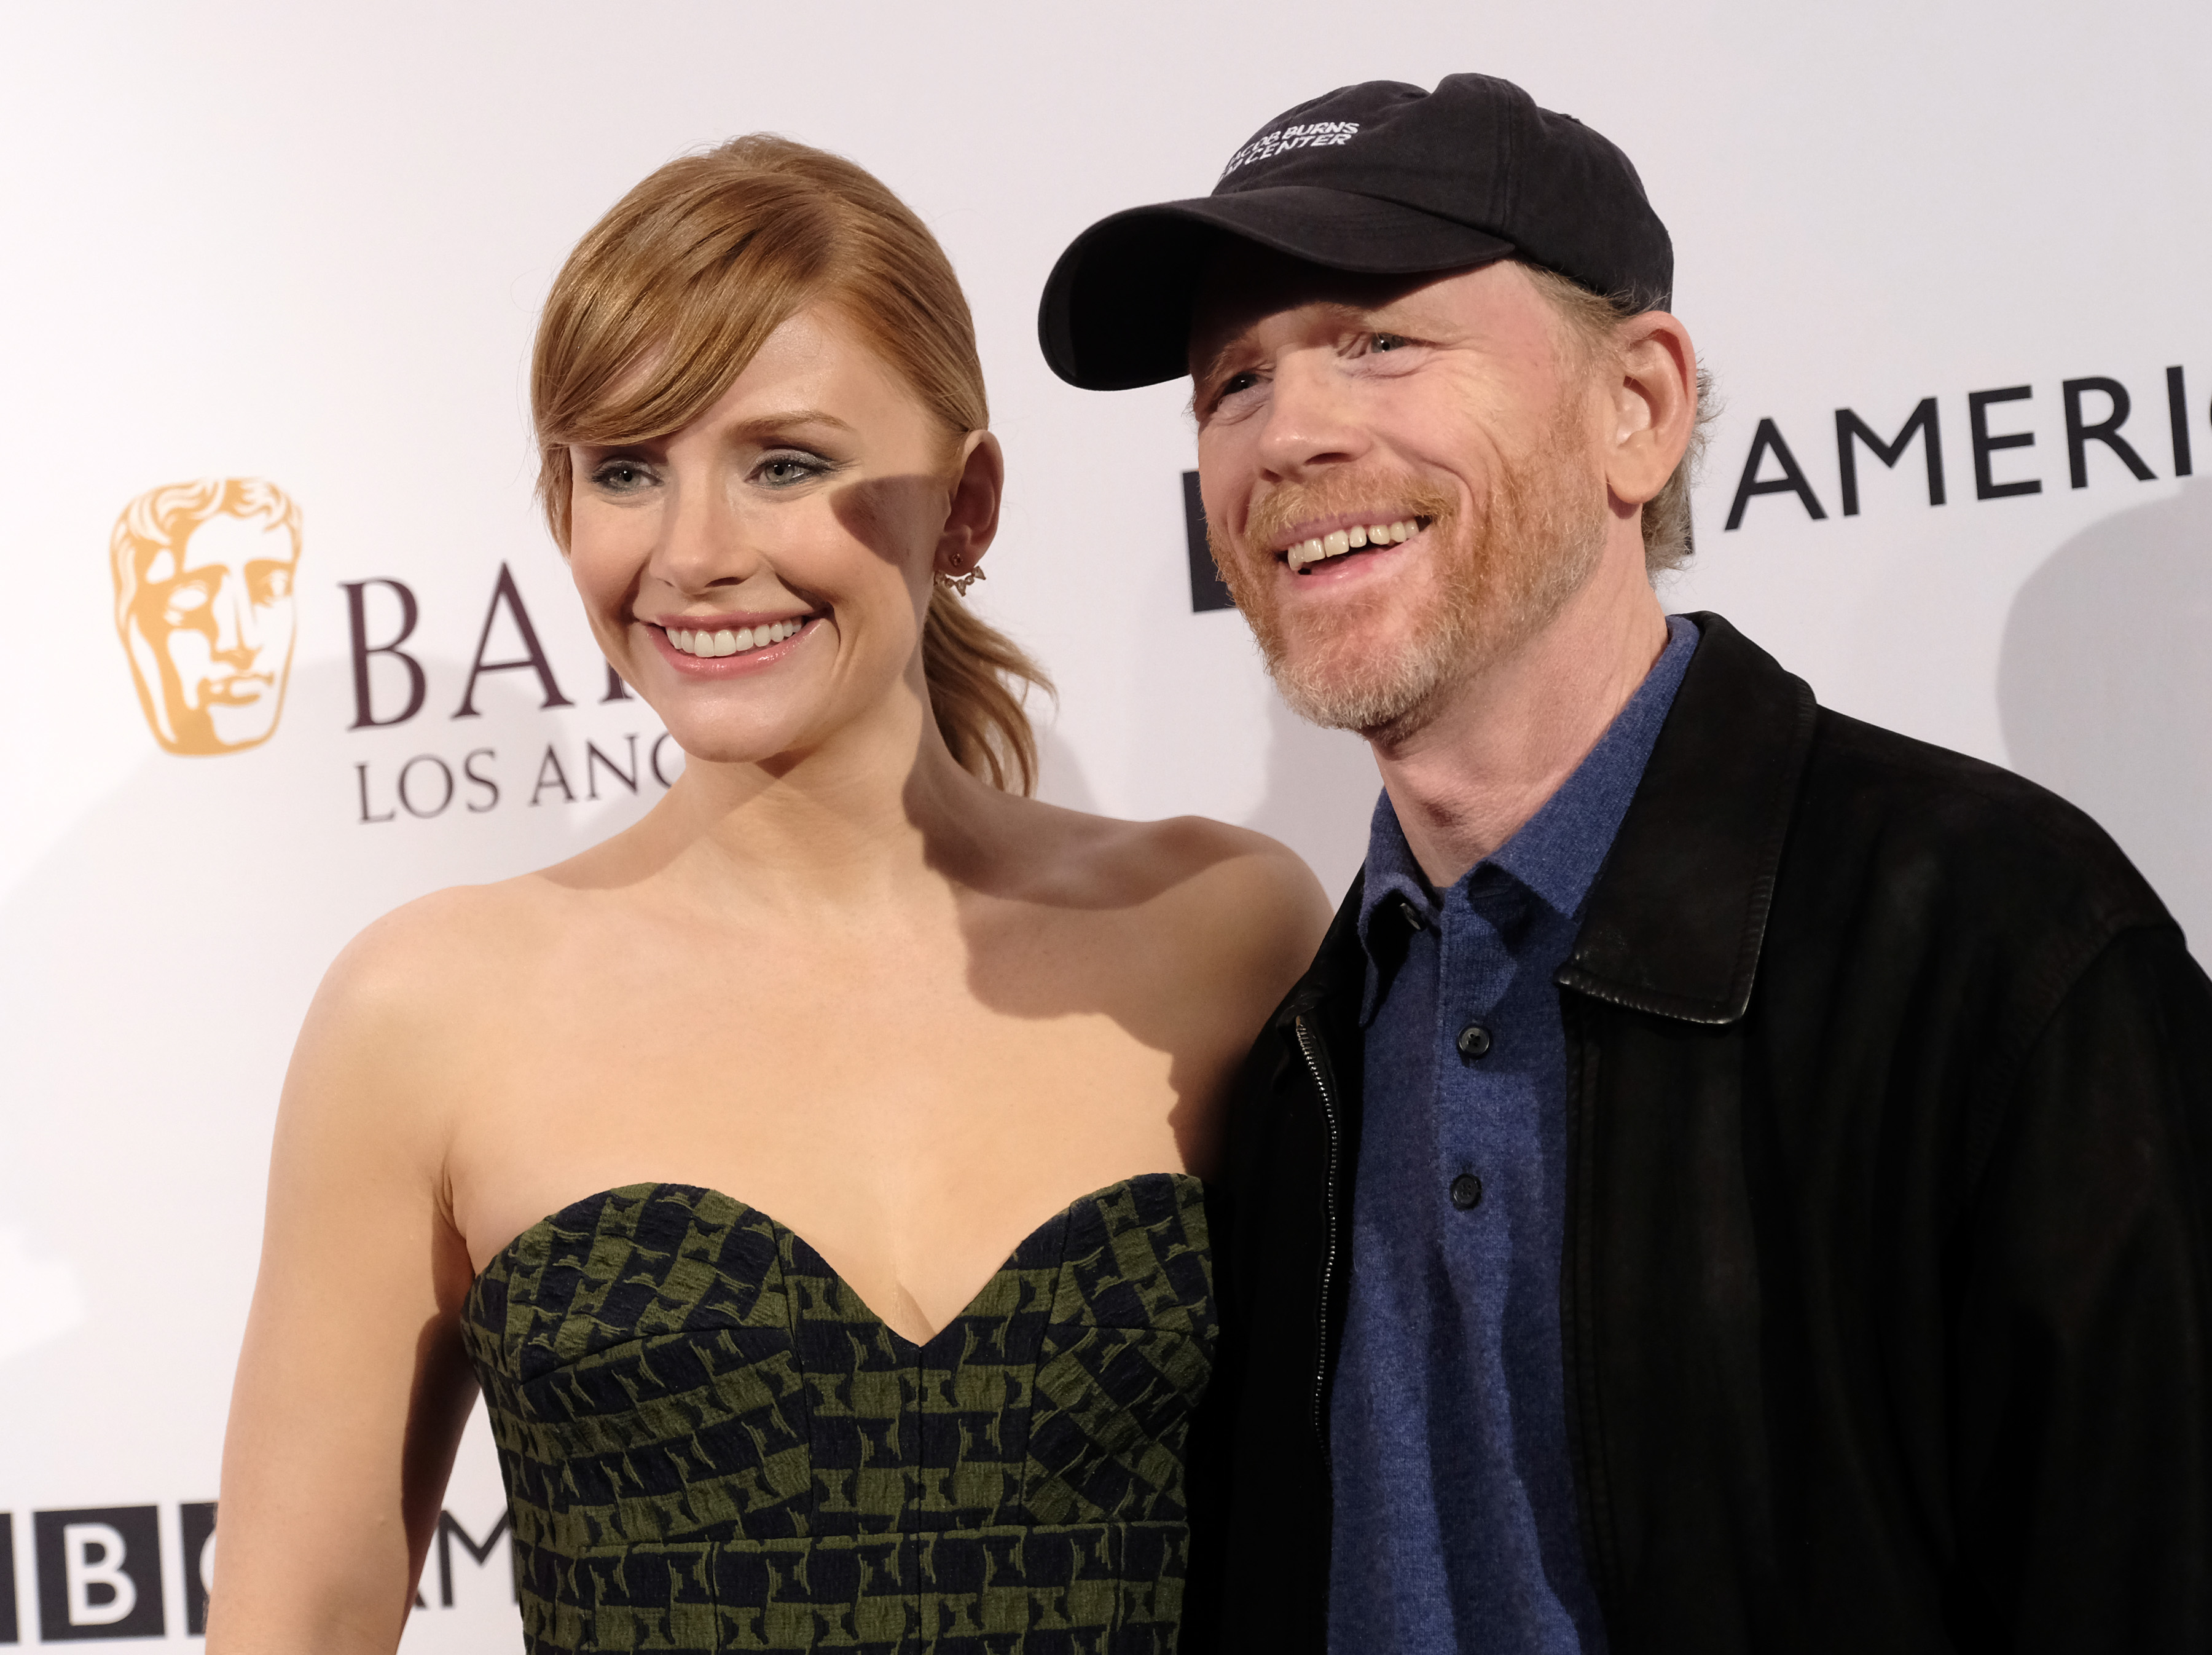
[[[1997,662],[2013,768],[2095,816],[2212,940],[2212,480],[2090,524],[2013,600]]]

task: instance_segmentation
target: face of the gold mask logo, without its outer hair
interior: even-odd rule
[[[166,746],[250,748],[276,728],[292,664],[292,533],[265,518],[208,518],[146,566],[131,606],[161,677]],[[153,686],[148,686],[153,688]]]

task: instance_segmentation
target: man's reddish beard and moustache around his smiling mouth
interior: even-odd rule
[[[1369,511],[1427,522],[1416,551],[1427,560],[1427,591],[1409,600],[1400,573],[1387,591],[1285,615],[1272,553],[1292,524]],[[1420,730],[1460,684],[1542,633],[1582,591],[1604,544],[1606,489],[1566,405],[1500,471],[1473,520],[1413,478],[1349,473],[1267,493],[1245,522],[1243,547],[1212,535],[1221,577],[1290,710],[1385,743]]]

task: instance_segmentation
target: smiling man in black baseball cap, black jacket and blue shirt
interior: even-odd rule
[[[1383,772],[1241,1082],[1186,1646],[2212,1648],[2212,985],[2119,850],[1668,617],[1628,159],[1345,86],[1044,292]],[[1203,1456],[1199,1460],[1203,1465]]]

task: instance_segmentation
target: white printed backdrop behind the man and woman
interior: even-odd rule
[[[1011,467],[975,602],[1060,679],[1048,797],[1254,823],[1332,887],[1356,867],[1365,750],[1274,704],[1232,613],[1190,611],[1186,389],[1060,385],[1035,299],[1079,228],[1203,192],[1279,108],[1482,69],[1617,139],[1674,232],[1677,310],[1728,414],[1670,606],[1728,613],[1829,706],[2068,792],[2212,931],[2212,13],[1814,15],[7,7],[0,575],[24,626],[0,650],[0,1642],[188,1637],[270,1120],[330,956],[659,790],[657,726],[602,701],[531,509],[522,374],[575,237],[732,133],[878,170],[967,281]],[[2170,367],[2203,476],[2177,476]],[[2128,394],[2117,429],[2148,480],[2086,440],[2070,485],[2066,385],[2088,378]],[[1969,394],[2017,387],[1984,429],[2033,445],[1989,449],[1989,480],[2039,489],[1978,498]],[[1896,469],[1860,447],[1845,516],[1836,409],[1887,440],[1922,398],[1944,504],[1920,447]],[[2073,400],[2077,425],[2112,407]],[[1745,496],[1725,531],[1761,420],[1805,487]],[[301,507],[296,653],[270,741],[186,757],[133,688],[108,531],[157,485],[232,476]],[[1787,478],[1765,454],[1754,480]],[[522,653],[511,604],[478,650],[502,564],[566,706],[538,670],[495,670],[456,719],[471,659]],[[427,695],[407,721],[349,728],[347,582],[416,600],[403,648]],[[389,639],[398,591],[365,586],[363,613]],[[405,706],[396,657],[372,693],[378,719]],[[418,763],[416,816],[394,788],[422,754],[458,785],[431,812],[438,768]],[[507,1547],[471,1555],[500,1513],[480,1427],[447,1507],[407,1648],[511,1646]]]

